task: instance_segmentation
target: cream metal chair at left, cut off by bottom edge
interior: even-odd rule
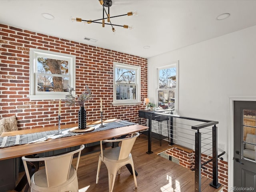
[[[43,157],[43,158],[26,158],[22,157],[28,184],[31,192],[78,192],[77,169],[80,160],[81,151],[84,145],[79,149],[66,154]],[[78,153],[76,167],[72,166],[74,154]],[[28,171],[28,162],[44,161],[44,168],[39,169],[30,178]]]

